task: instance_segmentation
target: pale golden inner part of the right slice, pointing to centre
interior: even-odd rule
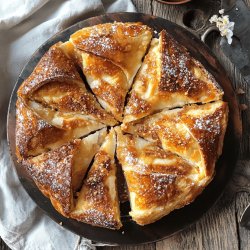
[[[181,109],[165,110],[155,115],[122,125],[125,132],[156,142],[165,150],[188,158],[188,161],[203,166],[203,160],[196,140],[181,122]]]

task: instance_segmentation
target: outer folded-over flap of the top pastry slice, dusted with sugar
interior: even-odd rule
[[[141,66],[152,30],[141,23],[105,23],[78,30],[70,41],[79,50],[101,56],[119,66],[129,84]]]

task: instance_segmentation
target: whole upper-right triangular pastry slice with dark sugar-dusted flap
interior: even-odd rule
[[[124,122],[164,108],[220,100],[223,91],[204,66],[165,30],[154,38],[133,84]]]

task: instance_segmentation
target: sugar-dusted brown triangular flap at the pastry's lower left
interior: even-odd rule
[[[72,167],[81,140],[74,140],[53,151],[22,162],[55,209],[68,216],[73,208]]]

